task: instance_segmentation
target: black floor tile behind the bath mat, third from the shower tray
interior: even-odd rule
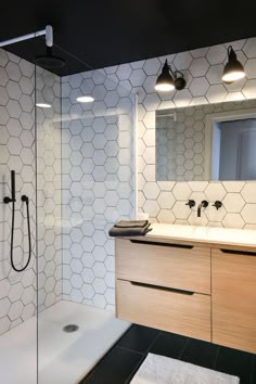
[[[216,361],[217,353],[217,345],[189,338],[180,359],[192,364],[212,369]]]

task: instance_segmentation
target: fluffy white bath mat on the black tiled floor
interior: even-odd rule
[[[130,384],[239,384],[240,379],[206,368],[149,354]]]

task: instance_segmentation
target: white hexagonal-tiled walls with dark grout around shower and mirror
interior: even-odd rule
[[[61,112],[60,79],[38,71],[38,98],[44,98],[53,105],[49,111],[38,110],[37,116],[40,310],[61,297],[107,309],[114,307],[114,244],[107,236],[107,230],[118,218],[133,216],[133,98],[130,91],[139,93],[139,209],[149,212],[153,221],[209,226],[217,223],[235,228],[256,225],[254,183],[180,183],[156,182],[154,179],[154,135],[150,130],[154,131],[155,128],[156,107],[256,97],[256,75],[253,74],[256,39],[247,39],[243,43],[233,42],[233,46],[238,50],[239,60],[245,63],[247,79],[232,86],[223,86],[220,80],[227,60],[225,44],[169,55],[170,64],[184,71],[188,86],[183,91],[168,95],[154,91],[154,81],[165,57],[63,77],[62,137],[57,130]],[[15,166],[18,170],[18,193],[24,182],[24,188],[26,185],[33,193],[34,68],[20,57],[12,57],[14,56],[5,51],[0,51],[0,169],[2,172],[8,165],[9,175],[10,169]],[[78,104],[76,98],[79,94],[93,94],[95,102]],[[185,125],[190,127],[188,135],[179,132],[177,161],[180,178],[183,175],[189,177],[192,158],[193,171],[197,176],[203,171],[201,119],[199,112],[193,116],[185,116]],[[195,153],[193,157],[192,151]],[[5,188],[8,184],[4,181]],[[191,195],[195,200],[202,199],[202,192],[210,203],[223,200],[225,207],[216,213],[210,204],[207,214],[203,213],[202,220],[199,221],[195,213],[191,213],[184,203]],[[232,205],[233,193],[239,206],[235,212]],[[35,193],[31,204],[35,212],[34,199]],[[10,230],[9,208],[2,209],[5,222],[1,221],[0,225]],[[35,231],[35,222],[33,226]],[[7,255],[4,260],[8,260],[9,243],[7,239],[3,241]],[[34,263],[31,261],[31,266]],[[4,268],[0,273],[5,273],[2,281],[8,284],[5,291],[0,292],[8,299],[4,308],[10,311],[10,316],[0,317],[0,332],[24,321],[35,310],[33,270],[26,273],[26,279],[21,277],[20,282],[13,278],[13,272],[9,272],[10,266]],[[20,283],[23,286],[22,295]],[[9,292],[13,303],[8,298]]]

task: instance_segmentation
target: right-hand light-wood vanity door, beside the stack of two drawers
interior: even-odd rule
[[[213,343],[256,353],[256,252],[212,249]]]

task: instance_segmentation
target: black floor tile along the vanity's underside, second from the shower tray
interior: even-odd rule
[[[178,359],[184,349],[187,341],[188,337],[162,332],[150,348],[150,353]]]

